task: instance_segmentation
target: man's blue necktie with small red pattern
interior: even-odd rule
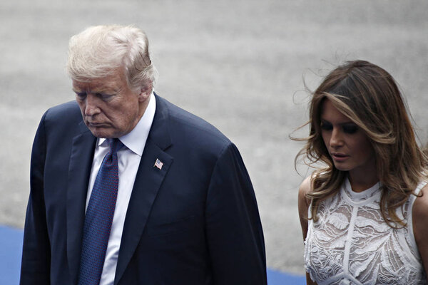
[[[101,163],[93,183],[91,198],[83,225],[79,285],[98,285],[103,272],[111,222],[113,222],[118,195],[118,150],[123,143],[117,138],[108,139],[110,151]]]

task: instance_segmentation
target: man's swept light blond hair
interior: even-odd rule
[[[158,72],[151,61],[146,33],[134,26],[91,26],[70,38],[67,72],[81,82],[103,78],[123,68],[131,90],[153,90]]]

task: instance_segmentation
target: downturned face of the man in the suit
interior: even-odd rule
[[[122,68],[111,76],[74,81],[73,91],[83,120],[97,138],[119,138],[131,132],[150,100],[148,91],[133,92]]]

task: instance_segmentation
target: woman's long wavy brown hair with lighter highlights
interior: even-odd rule
[[[419,148],[406,105],[394,78],[383,68],[367,61],[348,61],[335,68],[312,93],[310,127],[305,147],[309,165],[324,162],[312,175],[311,213],[317,220],[320,202],[335,195],[347,172],[337,170],[321,135],[322,102],[332,104],[365,132],[374,148],[377,175],[382,182],[380,210],[391,227],[404,222],[396,209],[402,207],[423,177],[427,156]],[[304,125],[304,126],[305,126]],[[296,157],[296,159],[297,159]]]

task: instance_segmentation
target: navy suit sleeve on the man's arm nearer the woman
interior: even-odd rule
[[[214,284],[267,284],[255,193],[232,143],[223,149],[213,170],[205,211]]]

